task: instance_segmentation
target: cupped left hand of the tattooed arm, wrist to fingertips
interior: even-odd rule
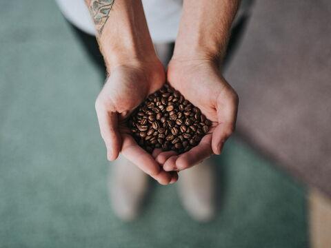
[[[165,172],[154,158],[134,141],[123,120],[149,94],[165,83],[165,72],[159,60],[134,61],[112,67],[95,108],[107,156],[113,161],[121,152],[159,183],[166,185],[178,179],[177,172]]]

